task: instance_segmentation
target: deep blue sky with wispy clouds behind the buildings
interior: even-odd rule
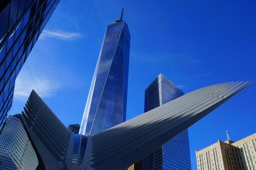
[[[127,119],[144,110],[144,90],[164,74],[185,93],[232,80],[256,80],[253,0],[61,0],[22,68],[10,113],[34,88],[65,125],[80,123],[106,25],[131,33]],[[256,84],[189,128],[195,149],[256,132]]]

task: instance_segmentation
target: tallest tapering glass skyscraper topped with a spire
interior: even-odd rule
[[[107,26],[79,133],[94,135],[126,118],[130,33],[122,19]]]

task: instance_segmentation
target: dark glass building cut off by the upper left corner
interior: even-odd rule
[[[0,129],[21,67],[60,0],[0,0]]]

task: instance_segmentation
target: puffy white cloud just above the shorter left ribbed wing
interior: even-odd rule
[[[14,97],[27,99],[32,89],[41,97],[51,97],[61,87],[62,83],[52,77],[51,74],[40,73],[32,67],[26,67],[16,79]]]

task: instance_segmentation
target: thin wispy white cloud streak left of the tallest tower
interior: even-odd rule
[[[62,40],[74,40],[82,37],[82,34],[78,32],[52,31],[44,29],[39,38],[45,39],[47,37],[53,37]]]

